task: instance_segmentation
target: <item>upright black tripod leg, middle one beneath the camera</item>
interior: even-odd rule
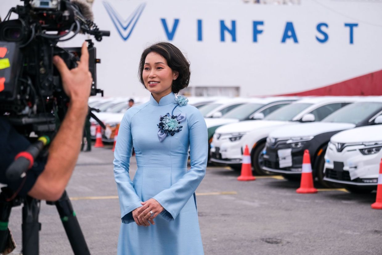
[[[27,196],[23,206],[23,254],[39,255],[39,200]]]

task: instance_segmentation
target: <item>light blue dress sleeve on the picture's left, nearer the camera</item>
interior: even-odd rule
[[[136,194],[129,176],[130,157],[133,152],[133,138],[129,123],[129,111],[121,121],[118,140],[114,150],[114,178],[117,183],[118,197],[123,223],[134,222],[132,211],[141,207],[141,198]]]

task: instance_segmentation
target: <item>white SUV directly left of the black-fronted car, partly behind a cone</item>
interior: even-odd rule
[[[221,126],[216,129],[211,142],[210,160],[217,165],[240,169],[243,151],[248,145],[254,171],[259,175],[267,174],[262,170],[261,162],[265,141],[270,132],[290,124],[321,121],[355,100],[356,97],[351,96],[308,97],[279,108],[263,120]]]

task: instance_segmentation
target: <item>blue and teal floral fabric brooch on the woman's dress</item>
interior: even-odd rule
[[[181,113],[179,116],[174,116],[174,110],[177,106],[187,105],[188,99],[185,96],[178,96],[175,98],[175,107],[172,109],[171,115],[170,113],[166,113],[165,115],[159,116],[159,124],[157,124],[158,138],[159,141],[162,142],[167,136],[173,136],[175,133],[181,131],[182,127],[180,125],[186,119],[186,114]]]

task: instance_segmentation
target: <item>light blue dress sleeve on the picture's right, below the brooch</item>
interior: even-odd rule
[[[153,198],[165,209],[161,215],[173,221],[194,194],[206,174],[208,137],[207,126],[202,114],[195,109],[187,116],[189,128],[191,169],[170,188],[161,191]]]

